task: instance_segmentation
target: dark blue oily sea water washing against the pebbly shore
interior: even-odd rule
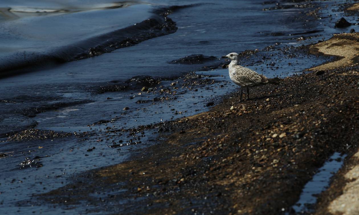
[[[242,53],[242,65],[268,77],[325,62],[302,45],[349,32],[333,28],[338,2],[1,1],[0,63],[22,74],[0,79],[0,213],[84,212],[32,195],[157,138],[158,129],[129,129],[218,104],[237,90],[224,54]]]

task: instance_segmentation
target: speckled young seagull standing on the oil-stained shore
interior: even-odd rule
[[[249,99],[249,87],[265,85],[267,83],[278,85],[280,78],[267,78],[264,75],[260,75],[257,72],[238,65],[238,54],[235,52],[229,53],[222,58],[229,58],[231,62],[228,65],[229,77],[236,85],[241,86],[241,99],[242,101],[243,88],[247,87],[247,98]]]

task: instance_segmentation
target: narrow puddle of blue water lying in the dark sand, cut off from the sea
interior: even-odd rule
[[[291,214],[310,214],[314,211],[314,204],[317,201],[317,195],[325,191],[330,183],[330,178],[339,171],[343,165],[346,155],[335,152],[324,165],[318,169],[312,180],[303,188],[298,202],[292,207]]]

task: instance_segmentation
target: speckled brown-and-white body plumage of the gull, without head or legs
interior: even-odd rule
[[[252,87],[268,83],[268,78],[246,67],[237,65],[237,60],[232,60],[228,66],[230,79],[241,87]]]

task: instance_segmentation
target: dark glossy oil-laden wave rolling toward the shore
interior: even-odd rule
[[[190,6],[194,4],[155,9],[151,18],[140,23],[60,47],[49,53],[21,52],[8,56],[0,62],[0,78],[31,72],[34,67],[98,56],[118,48],[134,46],[154,37],[174,33],[177,31],[176,23],[167,16],[176,10]]]

